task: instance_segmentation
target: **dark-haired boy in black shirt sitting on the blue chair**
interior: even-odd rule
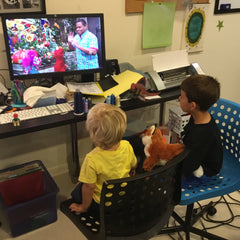
[[[183,175],[213,176],[222,167],[223,150],[219,130],[208,112],[220,97],[220,84],[211,76],[192,75],[181,84],[180,106],[191,114],[182,133],[190,150],[183,162]]]

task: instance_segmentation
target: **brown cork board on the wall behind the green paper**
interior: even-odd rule
[[[185,0],[154,0],[153,2],[177,2],[176,10],[184,10]],[[141,13],[143,12],[144,3],[149,0],[125,0],[126,13]],[[193,0],[193,3],[209,3],[209,0]]]

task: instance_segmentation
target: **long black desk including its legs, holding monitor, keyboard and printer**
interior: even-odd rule
[[[163,91],[159,99],[141,101],[139,99],[133,99],[121,102],[121,108],[124,111],[134,110],[141,107],[151,106],[154,104],[160,104],[160,124],[162,123],[164,103],[170,100],[178,98],[180,95],[180,89],[175,88],[171,90]],[[77,122],[85,121],[86,114],[82,116],[75,116],[73,112],[69,112],[64,115],[51,115],[42,118],[30,119],[21,122],[20,127],[14,127],[12,124],[0,125],[0,139],[18,136],[21,134],[36,132],[44,129],[59,127],[63,125],[70,125],[71,128],[71,140],[72,140],[72,181],[76,182],[78,179],[80,165],[78,156],[78,136],[77,136]]]

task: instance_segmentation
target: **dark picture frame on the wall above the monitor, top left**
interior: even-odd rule
[[[45,0],[0,0],[0,15],[8,13],[46,13]]]

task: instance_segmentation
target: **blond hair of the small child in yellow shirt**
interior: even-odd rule
[[[119,143],[126,127],[125,112],[114,105],[98,103],[90,109],[87,115],[86,128],[90,138],[96,146],[103,149]]]

